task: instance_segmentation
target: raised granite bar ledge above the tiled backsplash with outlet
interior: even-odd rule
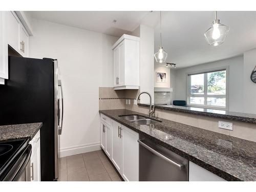
[[[140,106],[147,106],[149,104],[138,103]],[[207,117],[217,117],[223,119],[230,119],[235,121],[242,121],[247,123],[256,123],[256,114],[250,113],[238,113],[238,112],[229,112],[225,110],[213,110],[213,109],[204,109],[204,108],[195,108],[191,106],[176,106],[176,105],[155,105],[156,109],[175,111],[181,113],[189,113],[194,115],[203,115]]]

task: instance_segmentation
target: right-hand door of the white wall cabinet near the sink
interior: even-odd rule
[[[124,41],[119,45],[119,83],[118,86],[125,85],[125,58],[124,58]]]

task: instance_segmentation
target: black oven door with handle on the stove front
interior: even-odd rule
[[[8,174],[3,181],[31,181],[30,177],[30,156],[32,152],[31,144],[28,144],[23,152],[15,159],[15,163],[10,167]]]

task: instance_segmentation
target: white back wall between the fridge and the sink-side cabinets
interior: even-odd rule
[[[64,96],[61,156],[99,149],[99,87],[113,87],[117,37],[32,20],[30,57],[58,59]]]

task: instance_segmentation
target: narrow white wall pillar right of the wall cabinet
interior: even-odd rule
[[[154,29],[140,25],[131,34],[140,37],[140,91],[147,91],[154,103]],[[150,98],[143,94],[141,103],[149,103]]]

